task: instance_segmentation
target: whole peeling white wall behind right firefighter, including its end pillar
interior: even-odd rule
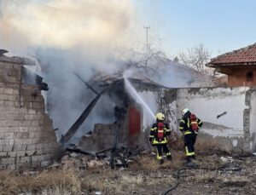
[[[173,98],[170,94],[177,93]],[[229,152],[255,152],[256,90],[195,88],[166,90],[166,104],[177,104],[177,121],[188,107],[204,122],[199,139],[217,141]],[[178,125],[177,125],[178,126]]]

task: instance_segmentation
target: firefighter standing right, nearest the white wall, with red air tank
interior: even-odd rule
[[[188,108],[185,108],[182,112],[183,118],[179,122],[179,129],[184,135],[184,145],[186,151],[187,162],[195,158],[195,141],[199,128],[201,128],[202,121],[195,117],[195,114],[189,112]]]

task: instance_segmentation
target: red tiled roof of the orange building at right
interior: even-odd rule
[[[213,58],[207,66],[229,66],[229,65],[256,65],[256,43],[234,50],[232,52],[218,55]]]

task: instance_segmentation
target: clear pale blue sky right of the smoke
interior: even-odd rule
[[[175,55],[203,43],[216,56],[256,43],[254,0],[133,0],[133,3],[142,23],[150,26],[149,34],[161,37],[161,46],[168,54]]]

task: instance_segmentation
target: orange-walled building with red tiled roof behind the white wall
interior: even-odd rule
[[[230,87],[256,86],[256,43],[218,55],[207,66],[227,74]]]

